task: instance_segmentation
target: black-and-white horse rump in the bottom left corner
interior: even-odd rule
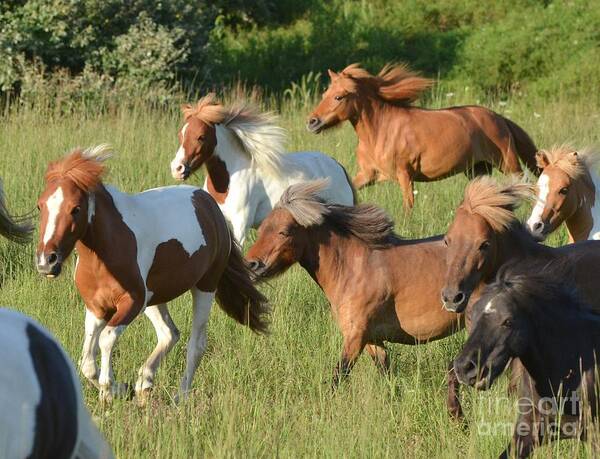
[[[2,457],[113,457],[70,358],[46,329],[0,308],[0,360]]]

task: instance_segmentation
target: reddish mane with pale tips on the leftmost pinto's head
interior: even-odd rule
[[[76,148],[63,159],[54,161],[46,170],[46,183],[68,178],[83,191],[92,191],[102,182],[105,172],[104,162],[112,156],[107,144],[82,150]]]

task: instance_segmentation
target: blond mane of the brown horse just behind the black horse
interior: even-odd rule
[[[465,189],[460,208],[485,219],[494,231],[502,232],[518,222],[515,210],[523,200],[533,199],[531,185],[512,179],[501,184],[490,176],[472,180]]]

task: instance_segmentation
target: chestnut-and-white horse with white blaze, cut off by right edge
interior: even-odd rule
[[[594,170],[598,153],[562,146],[542,150],[536,157],[542,174],[527,220],[529,230],[545,239],[564,222],[569,242],[600,239],[600,179]]]

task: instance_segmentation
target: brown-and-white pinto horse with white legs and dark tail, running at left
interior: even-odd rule
[[[86,305],[80,367],[103,399],[128,390],[114,380],[112,349],[143,311],[157,336],[135,384],[139,400],[145,400],[161,360],[179,339],[167,302],[190,291],[192,332],[179,390],[185,397],[206,350],[213,299],[239,323],[265,332],[266,298],[253,286],[240,249],[208,193],[192,186],[123,193],[102,182],[110,153],[106,145],[76,149],[48,166],[38,200],[37,268],[46,277],[57,277],[77,249],[75,284]]]

